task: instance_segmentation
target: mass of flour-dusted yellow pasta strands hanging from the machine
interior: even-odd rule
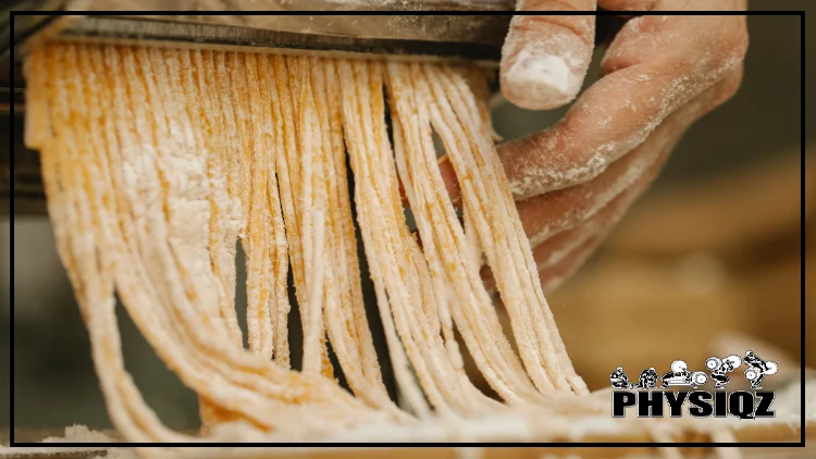
[[[59,255],[124,439],[290,441],[432,417],[606,412],[586,397],[544,298],[493,145],[482,71],[41,44],[25,75],[25,140],[41,151]],[[436,166],[434,132],[461,184],[463,223]],[[355,218],[379,317],[363,308]],[[235,310],[237,241],[246,253],[246,348]],[[480,277],[483,262],[511,337]],[[301,371],[289,363],[289,266]],[[123,363],[116,296],[198,394],[200,436],[170,430],[141,398]],[[383,383],[374,320],[408,410]],[[457,332],[500,401],[468,379]],[[329,345],[350,394],[334,380]]]

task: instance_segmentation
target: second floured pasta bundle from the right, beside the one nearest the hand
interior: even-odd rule
[[[413,82],[416,77],[411,76],[409,65],[388,64],[392,111],[399,119],[399,132],[404,134],[398,138],[395,128],[397,163],[400,164],[406,195],[424,241],[425,257],[436,271],[436,276],[447,278],[456,291],[458,301],[454,303],[452,313],[486,381],[507,401],[534,401],[540,397],[500,330],[493,305],[478,275],[478,266],[469,263],[474,259],[472,250],[466,243],[436,168],[430,129],[430,101],[415,87]],[[410,124],[403,122],[418,116],[413,113],[424,117]],[[461,147],[447,144],[446,149],[448,154],[454,154],[452,149],[458,151]]]

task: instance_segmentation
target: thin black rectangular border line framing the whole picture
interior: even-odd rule
[[[10,11],[10,28],[13,34],[14,30],[14,16],[15,15],[28,15],[28,14],[40,14],[40,15],[81,15],[83,12],[42,12],[42,11]],[[127,14],[128,12],[122,12],[122,11],[95,11],[95,14]],[[139,11],[139,12],[129,12],[131,14],[159,14],[159,15],[168,15],[168,14],[175,14],[175,13],[184,13],[183,11]],[[205,15],[214,15],[214,14],[224,14],[225,12],[214,12],[214,11],[206,11],[206,12],[197,12],[198,14],[205,14]],[[240,11],[242,14],[256,14],[256,15],[271,15],[271,14],[310,14],[310,15],[332,15],[337,14],[339,12],[337,11],[286,11],[286,12],[269,12],[269,11]],[[355,15],[386,15],[386,14],[394,14],[397,13],[395,11],[354,11],[350,12]],[[433,12],[405,12],[409,14],[509,14],[509,13],[502,13],[498,11],[482,11],[482,12],[462,12],[462,11],[433,11]],[[230,14],[230,13],[227,13]],[[234,13],[232,13],[234,14]],[[536,13],[520,13],[520,14],[536,14]],[[539,13],[541,14],[541,13]],[[558,11],[558,12],[547,12],[547,14],[556,14],[556,15],[566,15],[566,14],[582,14],[582,15],[617,15],[619,12],[611,12],[611,11]],[[804,182],[805,182],[805,11],[796,10],[796,11],[769,11],[769,10],[762,10],[762,11],[683,11],[683,12],[654,12],[654,11],[629,11],[627,14],[632,15],[656,15],[656,14],[668,14],[668,15],[754,15],[754,16],[763,16],[763,15],[788,15],[788,16],[799,16],[800,17],[800,24],[802,28],[802,34],[800,36],[801,41],[801,55],[800,60],[802,63],[801,67],[801,94],[802,94],[802,101],[803,103],[800,107],[800,154],[801,154],[801,182],[800,182],[800,193],[801,193],[801,214],[804,215],[805,212],[805,188],[804,188]],[[11,49],[10,60],[12,65],[10,65],[11,69],[11,75],[10,75],[10,86],[15,87],[14,85],[14,47]],[[793,443],[793,442],[737,442],[737,443],[715,443],[715,442],[683,442],[683,443],[667,443],[667,442],[631,442],[631,443],[619,443],[619,442],[574,442],[574,443],[534,443],[534,442],[526,442],[526,443],[497,443],[497,442],[487,442],[487,443],[440,443],[440,442],[429,442],[429,443],[147,443],[147,442],[136,442],[136,443],[99,443],[99,442],[91,442],[91,443],[73,443],[73,442],[60,442],[60,443],[37,443],[37,442],[15,442],[14,441],[14,135],[15,135],[15,120],[16,115],[14,114],[14,111],[12,110],[11,116],[10,116],[10,127],[11,127],[11,136],[9,137],[9,152],[10,152],[10,163],[12,168],[12,174],[10,176],[10,185],[11,185],[11,202],[10,202],[10,258],[12,263],[11,271],[11,308],[10,308],[10,322],[11,322],[11,328],[9,333],[9,338],[11,340],[10,346],[10,373],[9,377],[11,380],[11,390],[10,390],[10,447],[13,448],[39,448],[44,445],[47,445],[48,447],[66,447],[66,448],[111,448],[111,447],[172,447],[172,448],[211,448],[211,447],[231,447],[231,448],[261,448],[261,447],[360,447],[360,446],[368,446],[368,447],[384,447],[384,448],[394,448],[394,447],[438,447],[438,446],[447,446],[447,445],[456,445],[459,447],[479,447],[479,446],[504,446],[504,447],[531,447],[531,446],[537,446],[537,447],[566,447],[566,448],[576,448],[576,447],[589,447],[589,448],[598,448],[598,447],[614,447],[614,448],[620,448],[620,447],[644,447],[644,448],[662,448],[662,447],[683,447],[683,448],[757,448],[757,447],[805,447],[805,404],[802,404],[801,407],[801,418],[800,418],[800,442]],[[800,233],[800,245],[801,245],[801,256],[805,252],[805,221],[802,218],[800,222],[801,226],[801,233]],[[800,288],[801,288],[801,305],[800,305],[800,346],[801,346],[801,360],[805,360],[805,265],[802,261],[802,257],[800,257]],[[801,385],[801,392],[802,392],[802,400],[805,400],[805,369],[804,365],[801,368],[800,372],[800,381],[802,382]],[[23,451],[20,451],[23,452]]]

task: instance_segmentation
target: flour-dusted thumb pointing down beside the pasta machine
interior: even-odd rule
[[[595,0],[519,0],[516,4],[519,12],[595,8]],[[502,92],[529,110],[568,103],[581,90],[594,36],[594,15],[517,14],[502,49]]]

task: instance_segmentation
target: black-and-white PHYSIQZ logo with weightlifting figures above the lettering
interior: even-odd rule
[[[743,373],[745,381],[751,383],[754,392],[727,392],[731,382],[729,373],[745,363]],[[613,389],[613,418],[625,418],[628,408],[633,408],[639,418],[663,418],[664,408],[668,406],[669,417],[680,418],[683,411],[694,418],[726,418],[733,415],[740,419],[774,418],[776,413],[770,409],[774,402],[774,392],[762,389],[763,379],[776,374],[776,362],[765,361],[753,351],[745,352],[745,357],[728,356],[726,358],[709,357],[705,368],[710,372],[714,392],[706,390],[658,390],[671,387],[691,387],[696,389],[704,385],[709,375],[703,371],[689,371],[683,360],[671,362],[670,372],[660,376],[657,385],[657,371],[654,368],[643,370],[638,382],[629,381],[623,368],[618,367],[610,375]],[[687,408],[683,410],[683,408]]]

